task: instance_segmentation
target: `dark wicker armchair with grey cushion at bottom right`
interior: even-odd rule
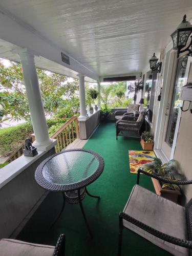
[[[160,197],[139,186],[140,173],[170,184],[192,184],[192,180],[169,181],[139,169],[137,185],[119,214],[118,256],[124,227],[176,256],[192,255],[192,199],[183,207]]]

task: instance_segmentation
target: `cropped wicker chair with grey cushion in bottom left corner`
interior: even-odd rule
[[[0,240],[1,256],[65,256],[65,234],[60,234],[56,246],[32,244],[15,239]]]

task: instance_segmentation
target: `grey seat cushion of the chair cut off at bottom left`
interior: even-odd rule
[[[53,256],[55,247],[31,244],[14,239],[0,240],[1,256]]]

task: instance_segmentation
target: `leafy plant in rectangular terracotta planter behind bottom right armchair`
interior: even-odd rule
[[[181,180],[181,175],[178,173],[177,162],[174,159],[163,164],[161,159],[154,157],[151,163],[143,165],[143,170],[151,174],[155,173],[160,175],[167,180]],[[176,203],[178,202],[178,196],[181,195],[178,185],[163,183],[154,178],[152,178],[152,182],[157,195]]]

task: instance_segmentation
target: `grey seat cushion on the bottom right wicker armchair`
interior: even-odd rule
[[[133,187],[123,212],[169,236],[187,240],[184,207],[139,185]],[[123,220],[123,226],[174,255],[189,255],[187,248],[165,242],[126,220]]]

